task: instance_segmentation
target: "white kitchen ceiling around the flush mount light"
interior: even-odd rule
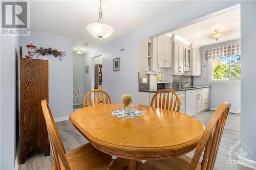
[[[209,34],[214,33],[215,29],[220,29],[220,32],[226,32],[218,41],[208,38]],[[240,38],[240,9],[197,22],[173,31],[171,34],[177,34],[187,41],[200,46],[238,39]]]

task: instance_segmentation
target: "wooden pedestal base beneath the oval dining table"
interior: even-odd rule
[[[140,165],[137,168],[137,164],[142,163],[136,160],[117,158],[113,160],[110,170],[141,170]]]

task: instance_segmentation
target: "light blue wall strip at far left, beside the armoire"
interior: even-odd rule
[[[16,156],[15,47],[17,36],[1,36],[0,169],[14,169]],[[18,49],[18,48],[17,48]]]

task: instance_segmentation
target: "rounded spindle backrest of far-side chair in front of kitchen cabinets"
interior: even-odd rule
[[[165,94],[166,93],[166,94]],[[159,98],[157,99],[157,96]],[[162,98],[163,96],[163,98]],[[166,99],[165,99],[166,96]],[[155,104],[155,105],[154,105]],[[151,100],[151,107],[162,108],[166,110],[180,111],[180,98],[176,92],[169,89],[158,90]]]

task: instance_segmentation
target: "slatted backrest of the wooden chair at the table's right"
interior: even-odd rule
[[[214,115],[211,116],[197,145],[197,149],[190,163],[189,170],[196,169],[204,149],[205,150],[203,161],[201,162],[201,170],[214,169],[214,164],[220,146],[229,108],[230,103],[223,102],[215,111]]]

